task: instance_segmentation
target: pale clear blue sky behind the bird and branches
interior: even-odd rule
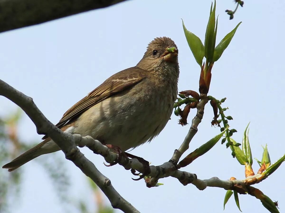
[[[135,66],[147,44],[158,36],[171,37],[179,49],[179,91],[198,91],[200,68],[186,42],[182,21],[188,30],[204,40],[211,1],[139,1],[124,3],[54,20],[37,26],[0,34],[1,80],[34,99],[45,116],[57,123],[62,114],[112,74]],[[284,1],[246,1],[233,20],[224,12],[234,9],[233,1],[217,1],[219,14],[217,42],[240,21],[235,37],[222,57],[214,64],[209,95],[221,99],[229,107],[229,124],[237,129],[233,138],[241,142],[242,133],[250,124],[249,140],[253,156],[262,156],[261,145],[268,144],[272,161],[284,154]],[[16,106],[0,97],[0,115],[5,116]],[[189,120],[196,114],[191,110]],[[211,127],[211,106],[186,154],[219,133]],[[159,165],[168,161],[182,143],[189,125],[179,126],[172,116],[164,130],[150,144],[131,153]],[[40,142],[33,123],[25,116],[19,126],[21,139]],[[161,179],[161,187],[148,189],[144,181],[133,181],[131,173],[121,166],[105,167],[103,158],[86,148],[81,149],[97,168],[111,179],[121,195],[141,212],[222,212],[225,190],[207,188],[199,191],[194,185],[183,186],[177,179]],[[64,159],[63,153],[56,153]],[[45,156],[41,156],[44,158]],[[72,162],[66,161],[72,181],[71,199],[92,203],[86,178]],[[12,212],[63,212],[58,197],[44,170],[35,162],[23,170],[21,202]],[[258,164],[254,162],[255,172]],[[203,157],[184,168],[200,179],[244,178],[244,168],[231,157],[231,151],[218,143]],[[255,185],[272,200],[284,207],[285,172],[282,165],[268,179]],[[283,187],[283,188],[282,188]],[[259,200],[239,196],[243,212],[267,212]],[[71,212],[76,212],[71,210]],[[119,211],[118,211],[119,212]],[[224,212],[239,212],[231,198]]]

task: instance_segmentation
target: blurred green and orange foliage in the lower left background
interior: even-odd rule
[[[27,151],[35,146],[38,141],[26,143],[22,141],[18,135],[18,126],[21,122],[23,111],[19,108],[15,112],[8,114],[5,118],[0,117],[0,165],[3,166],[7,162],[13,160],[19,154]],[[93,192],[95,207],[93,211],[88,210],[86,201],[72,201],[68,195],[70,188],[70,178],[65,165],[65,160],[60,158],[56,153],[47,154],[44,157],[35,158],[33,162],[37,162],[44,168],[44,171],[51,179],[54,191],[60,199],[62,205],[70,204],[75,206],[78,212],[82,213],[112,213],[111,206],[104,204],[101,190],[93,181],[88,181],[90,189]],[[7,172],[6,169],[0,169],[0,212],[11,212],[14,202],[21,202],[19,197],[25,166],[18,168],[13,172]],[[31,174],[32,175],[32,174]],[[89,179],[89,178],[88,178]]]

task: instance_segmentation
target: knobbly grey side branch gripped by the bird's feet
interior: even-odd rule
[[[103,156],[107,162],[111,163],[118,159],[116,153],[111,152],[108,147],[100,143],[98,140],[94,140],[91,136],[82,137],[78,134],[74,134],[73,136],[75,138],[76,144],[79,147],[88,147],[93,151],[93,153]],[[146,172],[144,165],[136,158],[129,159],[122,155],[118,163],[126,170],[134,169],[141,173]],[[147,187],[154,187],[156,186],[158,179],[171,176],[177,178],[183,185],[192,183],[200,190],[204,190],[209,186],[219,187],[225,190],[232,189],[238,191],[241,194],[245,194],[245,192],[248,190],[248,186],[255,183],[252,180],[259,176],[259,174],[249,176],[244,180],[237,180],[235,178],[231,178],[229,180],[220,180],[217,177],[200,180],[197,178],[196,174],[180,171],[172,162],[165,162],[160,166],[150,166],[150,173],[147,174],[147,176],[152,177],[150,179],[146,178],[145,182]]]

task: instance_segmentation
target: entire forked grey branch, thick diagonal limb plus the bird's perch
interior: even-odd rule
[[[24,95],[20,91],[17,91],[2,80],[0,80],[0,95],[7,97],[15,104],[20,106],[36,125],[37,132],[39,134],[48,134],[49,137],[51,137],[52,140],[62,149],[66,158],[74,162],[74,164],[78,168],[80,168],[80,170],[82,170],[82,172],[86,174],[86,176],[90,177],[99,186],[103,193],[108,197],[113,208],[121,209],[123,212],[139,212],[128,201],[123,199],[121,195],[119,195],[119,193],[111,185],[110,179],[106,178],[103,174],[101,174],[101,172],[97,170],[95,165],[79,151],[76,145],[78,145],[79,147],[88,147],[95,154],[100,154],[101,156],[103,156],[107,162],[114,162],[116,159],[118,159],[116,153],[113,153],[109,150],[108,147],[106,147],[99,141],[94,140],[90,136],[82,137],[81,135],[72,135],[70,133],[62,132],[49,120],[47,120],[47,118],[42,114],[42,112],[40,112],[40,110],[36,107],[36,105],[32,101],[32,98]],[[198,108],[198,112],[203,111],[203,108],[206,103],[207,101],[205,99],[202,102],[200,108]],[[193,119],[194,122],[192,121],[192,125],[193,123],[198,125],[201,122],[201,116],[199,118],[196,117]],[[197,121],[195,121],[195,119]],[[200,119],[200,121],[198,119]],[[195,129],[193,130],[193,128],[191,128],[189,132],[190,133],[188,133],[188,135],[193,135],[193,133],[195,135],[196,133]],[[183,147],[183,144],[181,147]],[[119,160],[119,164],[127,170],[133,169],[141,173],[146,172],[146,168],[144,167],[144,165],[136,158],[129,159],[125,156],[122,156],[122,158]],[[147,177],[145,179],[145,182],[147,187],[154,187],[156,186],[159,178],[172,176],[174,178],[177,178],[183,185],[192,183],[200,190],[204,190],[207,187],[219,187],[225,190],[235,190],[240,194],[245,194],[246,192],[250,191],[250,185],[256,183],[253,180],[256,179],[258,175],[259,174],[247,177],[244,180],[237,180],[235,178],[231,178],[229,180],[220,180],[217,177],[200,180],[197,178],[196,174],[180,171],[172,162],[165,162],[160,166],[150,166],[150,173],[148,174],[148,176],[150,176],[151,178]]]

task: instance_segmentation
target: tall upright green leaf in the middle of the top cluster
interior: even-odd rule
[[[213,4],[213,3],[212,3]],[[212,6],[211,6],[212,9]],[[213,61],[214,49],[215,49],[215,11],[216,11],[216,1],[214,4],[213,11],[210,12],[209,21],[207,24],[206,34],[205,34],[205,57],[209,62]]]

